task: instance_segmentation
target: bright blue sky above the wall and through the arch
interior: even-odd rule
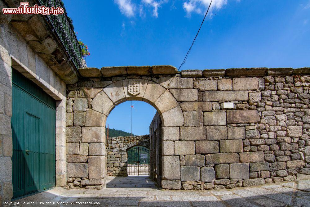
[[[210,2],[63,1],[78,39],[89,47],[87,65],[97,68],[117,65],[178,68]],[[310,66],[309,34],[310,0],[213,0],[181,70]],[[127,110],[125,105],[126,102],[114,109],[120,108],[118,114],[112,111],[108,117],[110,127],[128,128],[127,124],[113,124],[118,123],[117,118],[112,120],[112,115],[117,117]],[[130,103],[127,105],[130,109]],[[148,106],[139,104],[137,110],[153,113]],[[140,129],[133,133],[148,133],[150,121],[141,122]]]

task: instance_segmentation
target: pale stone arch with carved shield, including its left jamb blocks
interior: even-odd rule
[[[166,88],[147,79],[124,79],[114,82],[103,88],[90,101],[86,109],[85,125],[82,126],[82,142],[89,143],[88,162],[68,163],[67,167],[68,177],[86,178],[83,178],[81,183],[84,186],[98,184],[105,186],[104,178],[107,172],[105,125],[107,116],[118,104],[125,101],[149,103],[158,111],[162,127],[171,127],[172,130],[168,131],[173,133],[175,133],[173,129],[184,124],[183,112],[174,96]],[[74,99],[74,113],[74,109],[79,107],[76,105],[79,105],[79,98]],[[165,137],[168,139],[171,134],[164,133],[162,136],[162,140],[165,140]],[[85,172],[82,176],[81,171]]]

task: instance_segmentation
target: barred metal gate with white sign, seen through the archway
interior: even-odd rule
[[[148,175],[149,150],[143,146],[134,146],[127,151],[127,175]]]

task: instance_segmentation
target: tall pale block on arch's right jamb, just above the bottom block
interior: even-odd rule
[[[162,179],[163,180],[180,179],[179,156],[162,156]]]

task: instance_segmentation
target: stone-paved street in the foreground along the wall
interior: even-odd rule
[[[86,203],[70,205],[70,202],[97,202],[96,206],[310,206],[310,180],[216,191],[166,191],[117,186],[102,190],[65,190],[57,187],[16,201],[64,203],[16,206],[92,206]]]

